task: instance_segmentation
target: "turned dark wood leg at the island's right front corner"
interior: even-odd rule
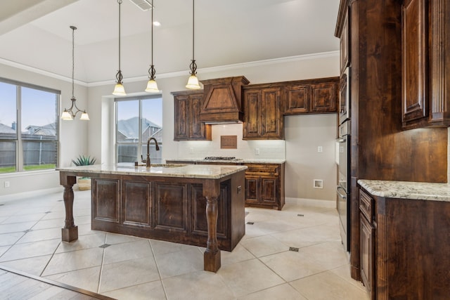
[[[210,272],[217,272],[221,266],[220,250],[217,247],[217,199],[220,195],[218,181],[207,181],[203,185],[203,195],[206,198],[206,220],[208,226],[208,239],[203,254],[203,268]]]

